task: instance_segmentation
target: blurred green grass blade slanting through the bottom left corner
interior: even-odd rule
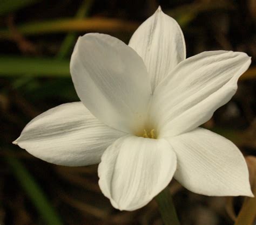
[[[38,186],[31,174],[26,170],[22,162],[13,157],[5,157],[5,160],[13,171],[16,179],[29,196],[33,205],[37,208],[38,213],[42,216],[45,223],[62,225],[63,223],[56,213],[55,208],[51,206],[42,189]]]

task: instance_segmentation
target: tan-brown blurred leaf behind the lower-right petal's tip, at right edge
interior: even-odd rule
[[[256,195],[256,157],[246,157],[246,163],[250,173],[250,184],[254,196]],[[252,225],[256,222],[256,198],[246,198],[242,204],[242,208],[235,220],[234,225]]]

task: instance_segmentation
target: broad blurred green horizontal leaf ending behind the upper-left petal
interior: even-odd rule
[[[0,56],[0,76],[70,76],[69,61]]]

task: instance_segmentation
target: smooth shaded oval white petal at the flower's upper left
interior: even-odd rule
[[[77,41],[70,69],[80,100],[100,121],[125,132],[136,132],[135,124],[144,123],[150,81],[131,47],[106,34],[85,34]]]

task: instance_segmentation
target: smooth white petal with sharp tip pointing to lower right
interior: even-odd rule
[[[253,196],[245,159],[230,140],[203,128],[167,139],[177,155],[174,178],[190,191]]]

